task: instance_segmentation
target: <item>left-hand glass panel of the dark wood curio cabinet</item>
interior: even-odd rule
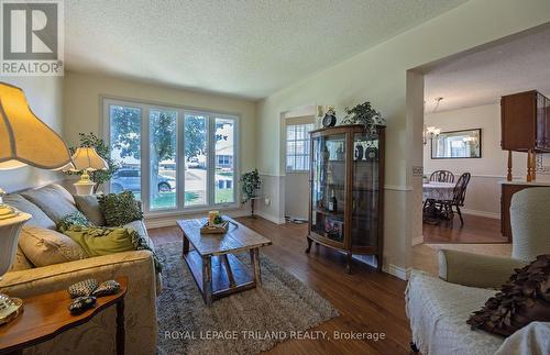
[[[312,144],[311,231],[343,242],[345,134],[315,137]]]

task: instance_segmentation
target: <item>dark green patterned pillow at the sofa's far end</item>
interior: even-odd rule
[[[98,196],[98,201],[109,226],[120,226],[143,219],[140,202],[132,191]]]

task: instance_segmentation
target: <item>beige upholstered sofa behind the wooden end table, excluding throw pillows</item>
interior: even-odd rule
[[[8,195],[4,197],[4,202],[33,215],[25,226],[47,230],[55,230],[59,217],[77,210],[74,197],[59,185]],[[143,221],[134,221],[125,228],[140,233],[153,248]],[[25,298],[67,289],[69,285],[86,278],[105,281],[120,276],[129,279],[124,308],[125,351],[128,354],[154,354],[157,339],[155,301],[161,284],[150,251],[124,252],[34,267],[19,247],[12,270],[0,280],[0,290],[10,296]],[[25,350],[24,353],[113,354],[114,352],[116,312],[111,307],[88,323]]]

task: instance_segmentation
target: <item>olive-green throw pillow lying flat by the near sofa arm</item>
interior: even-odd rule
[[[131,229],[125,228],[82,228],[72,225],[63,232],[78,243],[91,256],[109,255],[130,251],[147,249],[153,253],[155,269],[161,273],[162,265],[155,252],[145,240]]]

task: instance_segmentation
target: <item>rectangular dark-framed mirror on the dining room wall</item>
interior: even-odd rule
[[[431,158],[481,158],[481,129],[441,132],[431,138]]]

